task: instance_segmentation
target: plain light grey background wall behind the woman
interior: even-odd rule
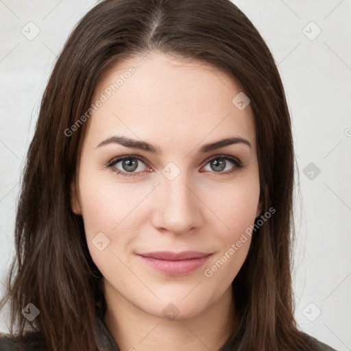
[[[0,0],[0,293],[14,253],[16,199],[40,98],[64,41],[95,3]],[[295,316],[308,334],[351,350],[351,0],[234,3],[274,54],[293,121],[300,176]],[[21,32],[34,35],[36,27],[32,40]]]

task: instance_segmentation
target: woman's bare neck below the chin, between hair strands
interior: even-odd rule
[[[206,311],[179,320],[145,313],[119,294],[105,297],[104,322],[121,351],[218,351],[237,325],[231,287]]]

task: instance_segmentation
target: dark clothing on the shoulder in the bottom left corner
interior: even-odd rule
[[[0,351],[45,351],[39,332],[27,332],[22,339],[0,332]]]

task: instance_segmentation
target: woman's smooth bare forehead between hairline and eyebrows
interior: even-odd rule
[[[240,91],[230,75],[198,60],[158,51],[134,56],[101,77],[91,102],[104,102],[88,120],[87,136],[96,143],[119,132],[174,147],[237,135],[255,147],[250,105],[239,110],[232,102]]]

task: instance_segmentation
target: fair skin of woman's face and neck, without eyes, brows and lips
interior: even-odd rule
[[[71,184],[72,210],[84,219],[90,254],[104,276],[104,321],[121,351],[219,350],[238,322],[230,309],[231,282],[245,261],[250,237],[213,276],[206,277],[204,270],[260,214],[252,109],[232,104],[241,90],[226,73],[158,51],[119,62],[101,77],[93,101],[130,66],[136,72],[86,121]],[[147,141],[162,154],[117,143],[97,147],[115,134]],[[205,143],[231,136],[245,138],[252,148],[237,143],[199,153]],[[115,173],[116,168],[128,173],[122,162],[114,169],[105,166],[125,155],[145,159],[134,177]],[[244,167],[226,160],[224,171],[234,171],[216,171],[211,160],[219,155],[239,158]],[[173,180],[162,173],[169,162],[180,171]],[[102,251],[92,243],[99,232],[110,240]],[[190,250],[213,255],[183,276],[162,274],[136,256]],[[175,319],[162,312],[170,303],[179,313]]]

